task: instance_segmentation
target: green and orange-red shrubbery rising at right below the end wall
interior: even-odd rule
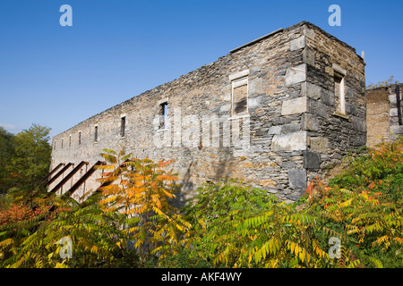
[[[343,231],[347,248],[364,266],[403,266],[402,168],[399,139],[354,158],[331,188],[316,181],[307,189],[309,211]]]

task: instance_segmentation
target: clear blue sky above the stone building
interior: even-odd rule
[[[72,27],[59,23],[63,4]],[[299,21],[364,50],[367,84],[403,81],[402,13],[401,0],[0,0],[0,125],[54,136]]]

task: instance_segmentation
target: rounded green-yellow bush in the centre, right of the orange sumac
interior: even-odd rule
[[[317,219],[262,189],[236,181],[206,184],[185,211],[193,233],[182,259],[198,257],[199,265],[211,267],[336,265],[318,240],[327,233]]]

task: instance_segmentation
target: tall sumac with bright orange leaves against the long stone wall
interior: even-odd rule
[[[133,158],[124,149],[119,153],[109,149],[104,152],[101,156],[109,164],[97,166],[105,175],[98,181],[108,184],[100,188],[104,197],[100,205],[106,212],[126,215],[123,232],[133,240],[141,263],[150,262],[152,254],[158,254],[160,259],[167,253],[176,254],[176,247],[184,243],[191,225],[170,204],[179,186],[176,174],[164,168],[174,161],[155,163],[148,158]]]

